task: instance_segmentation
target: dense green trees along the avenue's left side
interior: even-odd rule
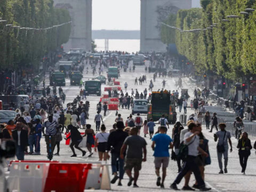
[[[42,57],[66,43],[70,24],[47,30],[6,27],[6,24],[44,29],[70,21],[67,10],[55,9],[53,0],[1,0],[0,68],[39,67]]]

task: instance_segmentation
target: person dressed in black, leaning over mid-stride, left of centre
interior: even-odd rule
[[[70,131],[70,135],[68,138],[65,138],[65,140],[71,138],[71,144],[69,147],[71,148],[73,155],[71,155],[70,157],[77,156],[75,153],[74,146],[76,149],[82,152],[82,156],[85,156],[86,151],[78,147],[79,143],[83,140],[81,133],[78,131],[77,127],[74,125],[68,125],[68,130]]]

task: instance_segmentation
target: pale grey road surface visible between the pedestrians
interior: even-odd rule
[[[147,63],[148,65],[148,63]],[[85,67],[86,68],[86,67]],[[124,83],[127,82],[128,84],[128,93],[131,94],[131,89],[138,89],[139,92],[142,92],[145,88],[148,89],[150,79],[153,79],[153,73],[146,73],[147,75],[147,83],[144,83],[142,85],[134,85],[134,79],[135,77],[140,77],[143,74],[145,74],[145,66],[137,66],[134,73],[130,73],[129,70],[127,70],[126,73],[124,73],[121,70],[121,77],[118,78],[118,81],[121,82],[121,86],[124,89]],[[106,74],[106,69],[104,69],[103,75]],[[89,74],[83,74],[84,80],[88,78],[92,78],[92,70],[89,67]],[[96,75],[95,75],[96,76]],[[175,87],[175,81],[177,81],[177,78],[168,78],[166,77],[166,89],[167,90],[176,90]],[[154,82],[154,89],[162,89],[162,81],[163,78],[157,78],[156,82]],[[189,89],[189,95],[193,95],[193,90],[195,89],[196,85],[189,82],[188,78],[182,79],[183,87]],[[49,84],[49,81],[46,79],[46,85]],[[105,85],[102,85],[102,90],[104,89]],[[58,87],[57,87],[58,88]],[[66,79],[66,86],[63,87],[63,91],[66,93],[66,103],[72,102],[74,98],[79,94],[79,88],[78,86],[69,86],[69,79]],[[180,90],[179,90],[180,92]],[[90,101],[90,119],[87,121],[87,123],[92,124],[92,128],[95,130],[95,124],[93,123],[93,118],[96,114],[96,105],[100,100],[100,97],[97,96],[89,96],[87,97],[87,100]],[[85,100],[84,100],[85,101]],[[190,100],[189,100],[190,101]],[[188,102],[189,105],[189,102]],[[183,111],[182,111],[183,112]],[[127,109],[119,109],[119,113],[122,114],[122,117],[126,119],[127,116],[130,115],[131,110]],[[193,113],[191,109],[188,109],[188,114]],[[103,115],[103,113],[101,112]],[[178,113],[179,114],[179,113]],[[109,111],[107,116],[104,117],[103,121],[107,127],[108,130],[111,129],[111,126],[114,123],[115,111]],[[142,118],[145,119],[146,115],[142,115]],[[179,116],[178,116],[179,119]],[[170,126],[170,130],[168,130],[167,134],[171,135],[171,128],[173,125]],[[83,130],[81,130],[82,132]],[[208,187],[212,188],[212,191],[255,191],[256,184],[254,183],[255,179],[255,172],[256,172],[256,157],[254,153],[254,149],[252,150],[252,154],[249,157],[249,161],[247,163],[247,169],[246,169],[246,175],[241,174],[241,167],[239,165],[239,158],[238,158],[238,150],[236,149],[237,141],[235,138],[232,138],[233,142],[233,152],[229,152],[229,162],[228,162],[228,173],[227,174],[218,174],[219,167],[218,167],[218,160],[217,160],[217,152],[216,152],[216,143],[213,140],[213,133],[209,133],[206,131],[205,125],[203,125],[203,133],[206,137],[206,139],[209,139],[209,147],[210,147],[210,154],[212,159],[212,164],[205,166],[205,181],[206,185]],[[142,135],[143,133],[141,133]],[[65,137],[65,135],[63,135]],[[143,135],[142,135],[143,137]],[[174,161],[170,161],[169,167],[167,169],[167,177],[165,179],[165,189],[160,189],[156,186],[156,175],[155,175],[155,169],[154,169],[154,157],[153,157],[153,150],[151,150],[151,141],[149,140],[149,137],[145,138],[148,145],[147,145],[147,162],[142,164],[142,170],[140,172],[140,177],[138,180],[138,186],[140,188],[132,188],[127,187],[128,177],[125,175],[124,180],[122,181],[123,186],[119,187],[117,186],[117,183],[115,185],[111,185],[111,188],[115,191],[158,191],[158,190],[170,190],[170,184],[173,182],[175,177],[177,176],[177,163]],[[255,141],[254,138],[251,138],[252,145]],[[87,149],[86,149],[87,150]],[[25,156],[25,159],[46,159],[46,146],[44,142],[44,138],[41,140],[41,156]],[[61,141],[60,146],[60,156],[54,156],[54,160],[65,160],[65,161],[98,161],[98,154],[93,154],[92,157],[87,157],[88,153],[85,157],[82,157],[82,154],[80,154],[80,151],[77,151],[77,157],[70,157],[72,155],[71,150],[68,146],[65,145],[65,140],[63,139]],[[108,161],[110,163],[110,160]],[[111,173],[111,171],[110,171]],[[182,188],[184,180],[181,181],[179,188]],[[192,186],[195,182],[195,178],[192,175],[190,179],[190,186]]]

